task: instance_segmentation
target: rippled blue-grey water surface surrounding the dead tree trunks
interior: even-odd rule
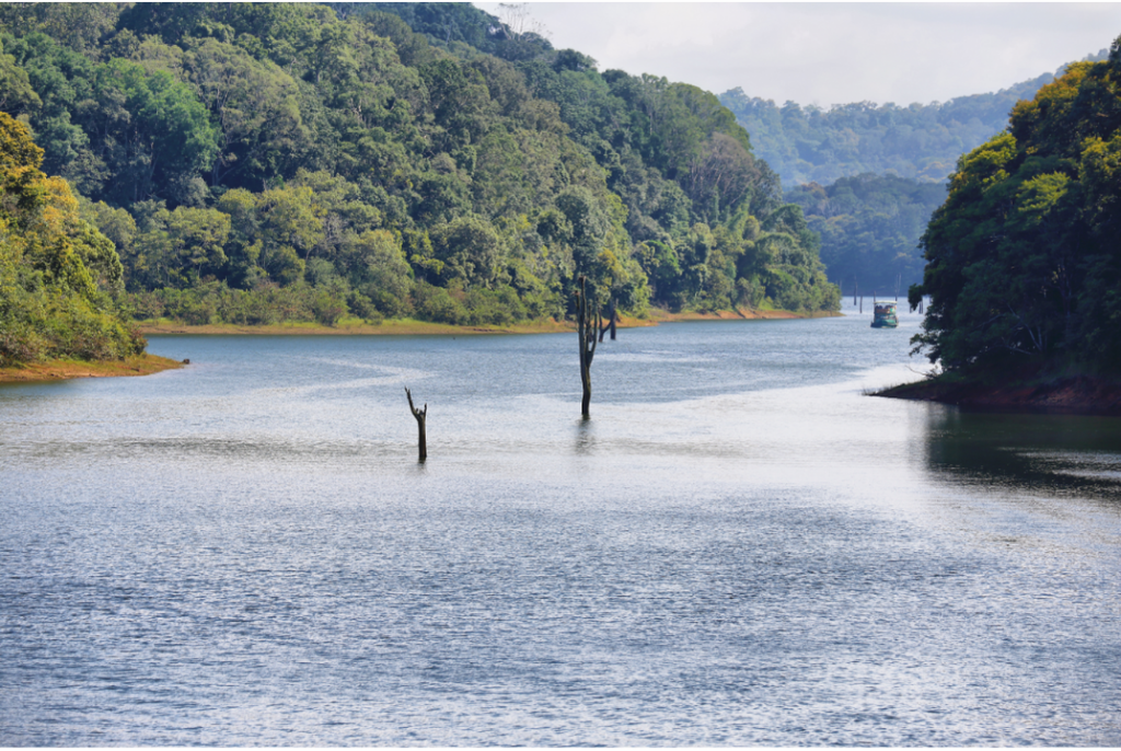
[[[1121,745],[1121,420],[869,323],[622,330],[587,421],[574,334],[4,386],[0,745]]]

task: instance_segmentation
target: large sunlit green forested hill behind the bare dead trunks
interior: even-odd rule
[[[716,96],[469,4],[6,3],[0,47],[137,318],[506,324],[581,276],[639,315],[839,305]]]

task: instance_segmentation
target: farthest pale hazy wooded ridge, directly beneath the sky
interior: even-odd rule
[[[1102,49],[1085,59],[1103,61]],[[877,174],[941,183],[957,158],[1008,126],[1016,102],[1031,99],[1055,74],[1045,73],[995,93],[943,103],[877,105],[853,102],[823,110],[749,96],[742,87],[720,95],[751,135],[756,155],[779,174],[785,187],[822,185],[841,177]]]

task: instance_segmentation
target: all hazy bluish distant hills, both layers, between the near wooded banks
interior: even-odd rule
[[[1086,57],[1104,61],[1109,50]],[[1045,73],[995,93],[948,102],[828,110],[728,91],[721,102],[751,133],[756,154],[779,174],[786,200],[800,205],[821,235],[831,281],[870,294],[906,289],[923,278],[919,239],[946,198],[957,158],[1008,127],[1020,100],[1060,76]]]

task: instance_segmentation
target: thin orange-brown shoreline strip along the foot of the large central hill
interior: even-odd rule
[[[720,310],[716,313],[670,313],[660,308],[651,308],[649,317],[633,318],[620,316],[618,328],[640,328],[657,326],[660,323],[675,323],[684,321],[775,321],[788,318],[823,318],[834,317],[840,313],[791,313],[789,310]],[[563,334],[576,331],[576,324],[565,321],[546,318],[544,321],[532,321],[527,323],[510,324],[508,326],[480,325],[458,326],[454,324],[430,323],[427,321],[386,319],[382,323],[371,324],[358,318],[343,321],[335,326],[325,326],[315,323],[286,323],[272,325],[243,325],[243,324],[184,324],[173,321],[140,321],[137,322],[140,333],[157,336],[175,335],[245,335],[256,336],[469,336],[474,334]]]

